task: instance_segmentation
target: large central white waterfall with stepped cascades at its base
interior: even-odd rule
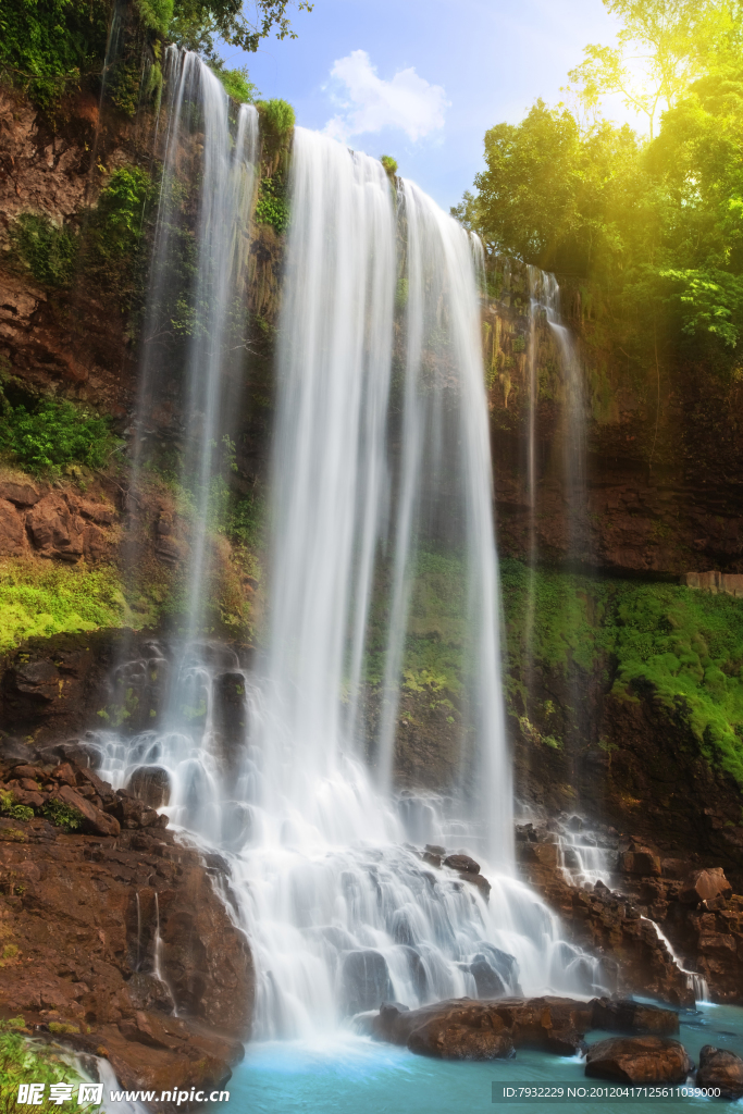
[[[204,118],[224,136],[214,101]],[[175,675],[164,726],[99,732],[101,766],[115,785],[157,766],[172,822],[221,849],[255,959],[260,1037],[332,1033],[391,999],[589,995],[597,964],[514,877],[477,245],[414,185],[395,188],[377,160],[302,128],[290,197],[266,644],[248,670],[194,639],[197,547],[185,647],[151,643],[127,665],[143,692]],[[202,197],[204,237],[215,204]],[[209,314],[218,266],[228,275],[234,260],[217,244],[199,263],[206,325],[186,359],[197,492],[225,418]],[[461,570],[462,773],[439,794],[402,794],[394,726],[417,577],[442,554]],[[372,612],[385,646],[377,731],[364,711]],[[477,856],[489,900],[487,882],[442,863],[453,851]]]

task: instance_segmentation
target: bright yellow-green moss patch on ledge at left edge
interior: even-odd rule
[[[111,566],[0,563],[0,652],[37,635],[123,626],[125,615],[121,582]]]

